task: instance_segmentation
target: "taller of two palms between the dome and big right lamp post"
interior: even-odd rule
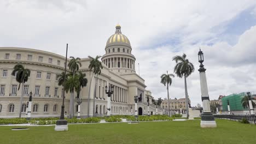
[[[178,77],[184,76],[184,84],[185,84],[185,98],[186,98],[186,110],[187,110],[187,117],[189,117],[189,110],[188,110],[188,89],[187,89],[187,77],[194,72],[195,68],[192,63],[186,58],[187,55],[183,53],[182,56],[175,56],[172,58],[172,61],[176,62],[174,67],[174,73],[177,74]]]

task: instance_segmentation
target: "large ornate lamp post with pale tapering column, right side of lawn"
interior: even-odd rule
[[[201,97],[202,97],[202,104],[203,104],[203,113],[201,115],[201,127],[202,128],[214,128],[217,127],[217,124],[214,120],[214,116],[211,113],[210,109],[210,98],[208,94],[208,87],[206,81],[206,69],[203,67],[203,52],[198,52],[198,61],[200,63],[199,68],[199,75],[200,75],[200,85],[201,85]]]

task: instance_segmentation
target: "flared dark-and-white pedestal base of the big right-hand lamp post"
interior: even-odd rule
[[[217,124],[211,112],[203,112],[201,115],[201,128],[216,128]]]

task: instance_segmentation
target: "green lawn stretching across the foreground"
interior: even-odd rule
[[[256,126],[217,119],[217,128],[200,128],[200,121],[103,123],[30,127],[11,131],[0,127],[0,143],[256,143]]]

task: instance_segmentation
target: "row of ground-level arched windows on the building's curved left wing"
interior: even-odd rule
[[[48,112],[48,107],[49,107],[48,104],[45,104],[45,105],[44,105],[44,112]],[[14,104],[10,104],[8,108],[9,108],[9,112],[14,112],[15,106],[14,106]],[[38,112],[38,109],[39,109],[38,104],[34,104],[32,111],[33,111],[33,112]],[[27,110],[27,105],[26,105],[26,104],[22,104],[22,106],[21,106],[21,112],[26,112],[26,110]],[[53,106],[53,112],[56,112],[56,111],[57,111],[57,104],[55,104],[55,105]],[[0,104],[0,112],[2,112],[2,105],[1,105],[1,104]]]

